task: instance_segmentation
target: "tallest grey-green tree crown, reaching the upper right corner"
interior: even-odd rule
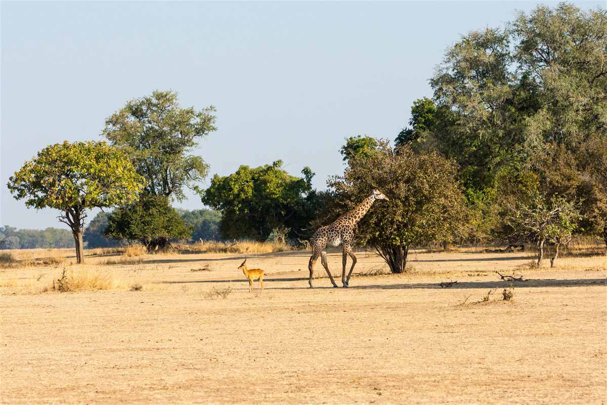
[[[512,37],[518,73],[537,99],[524,127],[527,144],[575,150],[593,135],[607,135],[607,11],[540,5],[518,14]]]

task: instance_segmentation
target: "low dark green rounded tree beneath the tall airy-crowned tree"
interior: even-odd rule
[[[169,205],[169,198],[144,193],[132,204],[114,209],[104,234],[118,240],[137,240],[148,251],[166,249],[171,239],[185,239],[192,229]]]

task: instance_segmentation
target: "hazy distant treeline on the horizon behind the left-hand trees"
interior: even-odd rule
[[[192,241],[219,240],[219,222],[221,214],[212,209],[177,209],[177,212],[192,228]],[[120,241],[103,236],[109,213],[101,211],[88,224],[83,240],[87,248],[117,247]],[[73,248],[72,232],[60,228],[45,230],[17,229],[13,226],[0,226],[1,249],[35,249],[35,248]]]

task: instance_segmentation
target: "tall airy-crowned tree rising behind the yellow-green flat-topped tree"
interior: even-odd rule
[[[155,91],[107,118],[103,136],[131,157],[148,180],[148,194],[182,200],[183,189],[199,191],[197,183],[208,173],[202,157],[191,152],[216,130],[214,112],[213,106],[181,108],[176,92]]]

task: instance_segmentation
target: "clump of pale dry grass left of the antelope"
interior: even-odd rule
[[[118,279],[114,273],[90,268],[78,270],[63,269],[61,277],[53,280],[51,290],[66,291],[98,291],[98,290],[126,290],[128,287]]]

